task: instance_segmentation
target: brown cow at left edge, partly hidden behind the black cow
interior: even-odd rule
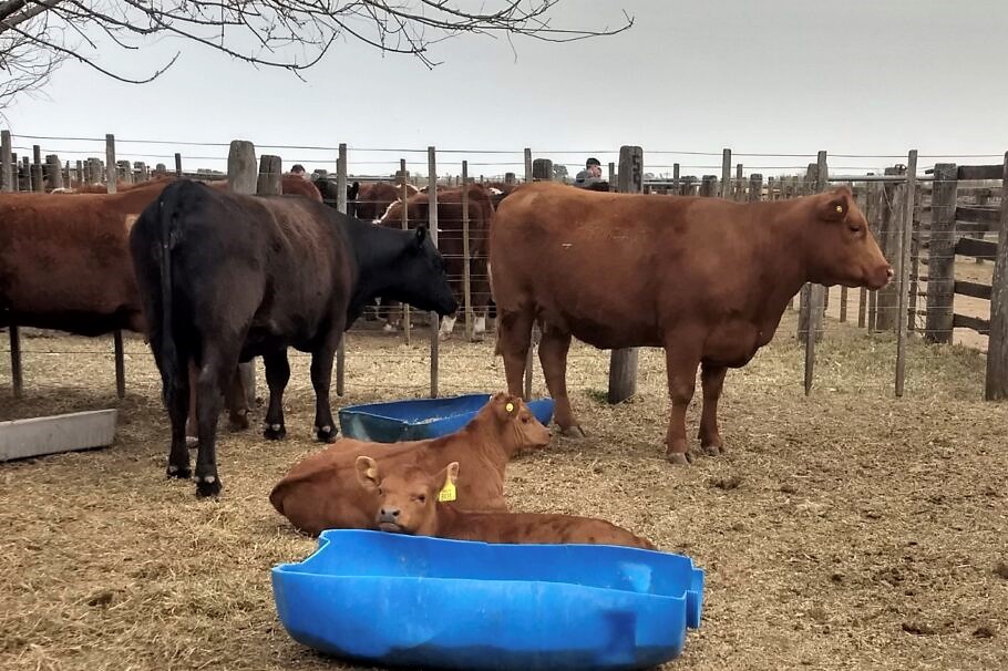
[[[285,189],[291,177],[284,180]],[[174,177],[83,187],[96,193],[0,194],[0,327],[18,324],[96,337],[116,330],[146,334],[127,238],[140,213]],[[226,188],[226,180],[209,183]],[[299,188],[300,185],[294,185]],[[99,190],[100,189],[100,190]],[[311,193],[299,188],[299,193]],[[321,195],[318,195],[321,202]],[[227,390],[232,429],[248,427],[253,399],[236,375]],[[187,435],[195,436],[191,405]]]

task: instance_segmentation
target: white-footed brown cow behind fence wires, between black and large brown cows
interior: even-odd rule
[[[402,226],[402,200],[393,203],[381,219],[382,226]],[[410,226],[430,226],[431,203],[426,193],[420,193],[407,200]],[[475,313],[473,336],[482,338],[486,332],[487,304],[490,303],[490,270],[486,267],[486,237],[494,217],[491,192],[480,184],[469,186],[469,258],[470,293]],[[461,304],[464,292],[464,259],[462,238],[462,188],[438,190],[438,248],[444,255],[448,273],[452,281],[455,300]],[[382,301],[384,302],[384,301]],[[390,307],[390,314],[393,308]],[[441,338],[451,336],[455,328],[456,314],[441,320]]]

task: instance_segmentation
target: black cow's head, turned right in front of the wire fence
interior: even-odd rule
[[[389,286],[381,296],[442,317],[453,314],[459,303],[448,282],[444,258],[431,241],[426,226],[401,231],[399,240],[401,248],[387,269]]]

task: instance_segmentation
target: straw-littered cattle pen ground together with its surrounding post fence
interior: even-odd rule
[[[220,178],[236,146],[154,142],[4,132],[0,186]],[[272,153],[246,157],[250,190],[275,189],[294,163],[335,173],[337,194],[354,180],[506,188],[596,155],[614,190],[750,202],[848,185],[896,280],[795,297],[773,342],[728,375],[726,456],[689,468],[662,458],[660,350],[575,343],[568,386],[588,437],[554,436],[516,461],[508,504],[605,517],[707,570],[703,626],[669,668],[1008,667],[1008,412],[985,400],[1008,393],[1004,155],[254,149]],[[475,247],[463,224],[435,225]],[[344,338],[335,405],[501,390],[493,329],[472,341],[474,314],[461,319],[469,326],[441,339],[426,314],[388,330],[381,311],[362,318]],[[271,603],[268,567],[315,548],[266,500],[319,448],[306,355],[291,354],[287,440],[263,440],[261,407],[250,431],[222,433],[229,478],[219,500],[200,502],[163,477],[167,419],[142,336],[14,327],[0,421],[95,407],[117,407],[120,420],[107,450],[0,466],[0,669],[357,668],[294,643]],[[538,370],[528,383],[547,395]]]

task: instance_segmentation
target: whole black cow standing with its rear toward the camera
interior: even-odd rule
[[[425,229],[374,226],[307,198],[255,197],[179,180],[141,214],[130,254],[172,421],[168,476],[188,477],[185,422],[193,361],[199,448],[196,492],[220,491],[215,453],[220,380],[261,355],[267,438],[286,434],[287,348],[311,353],[316,434],[336,440],[332,359],[376,296],[451,314],[444,262]]]

